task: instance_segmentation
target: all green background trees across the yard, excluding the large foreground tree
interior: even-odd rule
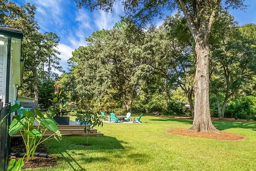
[[[230,5],[243,7],[240,1],[230,1]],[[94,106],[101,110],[194,114],[197,51],[186,13],[179,11],[174,17],[167,17],[161,27],[147,30],[138,22],[130,22],[139,16],[127,15],[130,19],[124,18],[113,29],[100,30],[86,38],[88,46],[73,52],[70,72],[58,78],[52,70],[62,71],[57,56],[59,37],[53,32],[40,32],[35,6],[19,6],[7,0],[1,1],[0,6],[1,25],[25,33],[25,72],[20,94],[34,97],[41,109],[49,108],[52,85],[58,79],[69,102],[76,102],[79,109]],[[196,13],[201,7],[204,8],[187,10]],[[253,118],[255,25],[239,27],[227,9],[214,11],[215,22],[209,34],[211,114],[220,119],[234,117],[235,113],[241,118]],[[196,16],[194,20],[199,21]],[[190,111],[185,104],[190,104]],[[238,108],[246,105],[250,106],[248,110]]]

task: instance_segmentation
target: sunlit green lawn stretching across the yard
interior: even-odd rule
[[[63,137],[45,143],[58,166],[33,170],[256,170],[256,123],[215,121],[244,141],[172,135],[166,128],[188,128],[185,119],[142,117],[144,124],[104,123],[103,137]]]

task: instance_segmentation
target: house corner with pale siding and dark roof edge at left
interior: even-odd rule
[[[13,103],[17,98],[17,86],[22,84],[22,37],[21,30],[0,26],[0,99],[3,103]]]

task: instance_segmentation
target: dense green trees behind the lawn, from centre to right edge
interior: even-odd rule
[[[213,116],[243,113],[231,107],[237,99],[255,104],[255,29],[252,24],[239,27],[226,11],[217,14],[210,35]],[[86,40],[87,46],[73,52],[70,72],[59,80],[78,108],[193,115],[195,43],[183,15],[167,17],[162,26],[146,31],[119,22]],[[250,112],[255,117],[255,110]],[[248,118],[249,113],[239,115]]]

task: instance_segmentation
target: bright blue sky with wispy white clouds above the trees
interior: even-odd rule
[[[74,0],[13,0],[17,4],[27,2],[37,7],[36,21],[41,32],[52,31],[60,37],[59,51],[61,66],[68,71],[67,60],[71,53],[80,45],[85,45],[85,38],[92,32],[110,29],[120,21],[123,14],[121,3],[115,3],[113,13],[77,9]],[[245,11],[229,10],[239,25],[256,23],[256,0],[245,0],[250,5]],[[156,25],[163,21],[155,20]]]

